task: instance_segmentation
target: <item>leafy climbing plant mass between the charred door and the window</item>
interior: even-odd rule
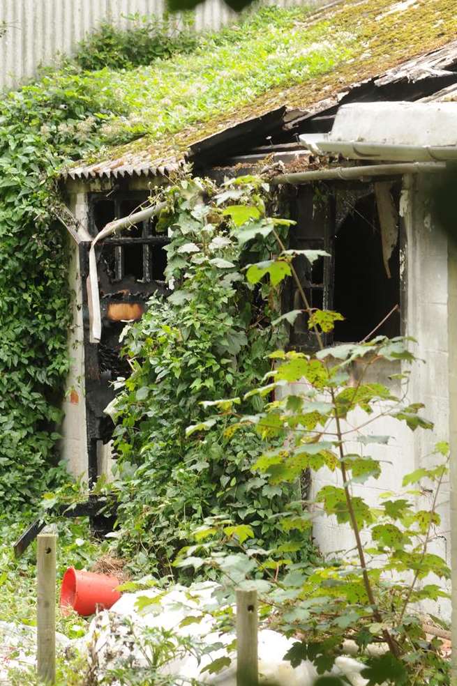
[[[167,277],[176,287],[166,302],[153,297],[126,334],[133,374],[114,406],[122,479],[119,547],[123,556],[136,556],[136,565],[161,574],[170,572],[191,528],[209,515],[248,522],[257,546],[289,538],[276,515],[293,499],[294,487],[271,486],[253,475],[260,437],[248,430],[229,441],[200,426],[213,400],[260,382],[271,368],[265,353],[278,342],[268,308],[258,306],[258,289],[239,272],[246,254],[227,236],[224,203],[253,191],[247,181],[217,194],[198,180],[165,191],[170,210],[160,223],[173,232]],[[264,404],[253,397],[239,410],[261,411]],[[190,424],[193,435],[186,436]],[[203,429],[209,430],[202,441]]]

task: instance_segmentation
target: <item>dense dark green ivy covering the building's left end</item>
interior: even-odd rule
[[[108,99],[71,70],[0,103],[0,499],[22,508],[59,480],[72,325],[57,168],[98,142]],[[106,109],[105,109],[106,108]]]

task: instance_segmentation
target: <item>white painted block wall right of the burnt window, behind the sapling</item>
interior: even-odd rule
[[[442,462],[442,457],[431,455],[437,441],[446,441],[449,433],[449,382],[447,350],[447,239],[440,229],[433,225],[428,209],[428,190],[424,178],[404,178],[403,204],[405,206],[405,231],[407,245],[405,250],[405,269],[407,278],[406,334],[417,339],[414,353],[426,361],[412,367],[408,399],[410,402],[423,402],[426,405],[424,416],[434,422],[433,431],[417,429],[412,432],[405,423],[393,418],[380,418],[367,429],[375,435],[391,435],[394,439],[388,447],[371,444],[364,448],[364,454],[382,463],[382,476],[370,479],[364,485],[354,485],[355,495],[363,496],[373,507],[379,504],[379,496],[385,491],[401,490],[403,475],[419,467],[430,467]],[[404,365],[409,369],[409,365]],[[392,371],[394,371],[392,369]],[[400,371],[397,369],[396,371]],[[389,385],[386,379],[382,383]],[[392,382],[391,382],[392,383]],[[296,391],[295,391],[296,392]],[[393,392],[396,392],[393,389]],[[366,421],[363,411],[350,416],[350,424]],[[360,453],[359,443],[352,445],[354,452]],[[348,446],[348,450],[352,449]],[[331,484],[341,486],[340,475],[321,470],[313,475],[312,497],[322,486]],[[437,537],[430,546],[450,563],[451,544],[449,531],[449,484],[443,485],[439,498],[441,526]],[[432,496],[417,499],[419,509],[429,510]],[[349,526],[336,523],[335,517],[318,517],[315,521],[314,535],[324,554],[350,550],[354,547],[354,537]],[[436,580],[435,580],[436,581]],[[439,581],[436,581],[440,583]],[[448,586],[447,590],[450,588]],[[437,608],[434,608],[437,611]],[[440,602],[443,618],[450,618],[450,604]]]

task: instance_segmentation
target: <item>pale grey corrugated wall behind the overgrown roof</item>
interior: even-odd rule
[[[287,7],[300,0],[265,0]],[[323,0],[311,0],[322,4]],[[307,4],[309,4],[309,0]],[[122,15],[163,13],[164,0],[0,0],[0,88],[11,88],[33,76],[40,63],[49,64],[57,52],[70,54],[101,20],[126,25]],[[195,10],[195,28],[218,29],[235,17],[223,0],[206,0]]]

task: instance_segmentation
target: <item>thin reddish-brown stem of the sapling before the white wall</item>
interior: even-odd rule
[[[278,236],[278,233],[276,229],[273,229],[273,234],[276,238],[276,241],[278,242],[278,245],[281,250],[285,250],[285,245],[283,241],[281,241],[280,237]],[[310,303],[308,302],[308,298],[306,297],[306,293],[304,291],[303,286],[301,285],[301,282],[299,280],[299,277],[297,275],[297,271],[295,270],[294,266],[292,263],[290,263],[290,271],[292,273],[292,278],[297,285],[297,289],[299,291],[299,294],[301,296],[301,299],[303,300],[303,303],[305,305],[305,310],[310,314],[312,312]],[[313,326],[316,339],[317,339],[317,344],[319,345],[320,350],[324,350],[324,342],[322,341],[322,335],[317,328],[316,325]],[[335,410],[335,423],[336,423],[336,437],[338,439],[338,452],[340,453],[340,470],[341,470],[341,476],[343,478],[343,489],[345,491],[345,498],[346,498],[346,504],[347,504],[347,512],[350,517],[350,522],[352,526],[352,531],[354,532],[354,537],[356,540],[356,546],[357,546],[357,554],[359,555],[359,561],[361,565],[361,570],[362,570],[362,578],[364,579],[364,586],[366,590],[366,595],[368,597],[368,601],[370,602],[370,605],[373,607],[373,617],[377,621],[377,623],[382,624],[382,616],[377,608],[376,600],[375,600],[375,595],[373,593],[373,588],[371,586],[370,582],[370,577],[368,576],[368,570],[366,567],[366,561],[365,561],[365,554],[364,554],[364,546],[361,541],[361,536],[360,536],[360,530],[359,530],[359,524],[357,523],[357,517],[354,512],[354,507],[352,505],[352,497],[349,489],[349,485],[347,482],[347,471],[346,471],[346,466],[345,466],[345,454],[343,450],[343,432],[341,431],[341,424],[340,424],[340,416],[338,415],[338,408],[335,402],[335,390],[334,388],[330,387],[330,395],[331,395],[331,402],[334,406]],[[387,629],[384,629],[382,632],[382,635],[384,637],[384,640],[386,641],[387,645],[389,646],[389,649],[391,650],[391,653],[395,655],[395,657],[398,657],[398,646],[396,645],[394,639],[391,637],[390,632]]]

